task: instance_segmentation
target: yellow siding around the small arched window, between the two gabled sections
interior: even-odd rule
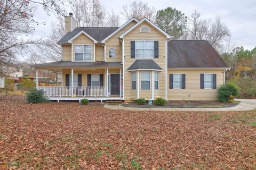
[[[131,28],[136,22],[131,22],[126,25],[123,29],[119,30],[115,35],[107,39],[106,46],[106,62],[122,62],[122,44],[119,42],[119,36],[122,35],[126,30]],[[115,49],[115,57],[109,58],[109,49]]]

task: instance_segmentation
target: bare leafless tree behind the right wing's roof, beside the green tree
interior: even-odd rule
[[[201,19],[201,14],[195,11],[188,19],[187,37],[189,39],[205,39],[217,50],[221,50],[223,41],[231,36],[227,25],[217,17],[211,19]]]

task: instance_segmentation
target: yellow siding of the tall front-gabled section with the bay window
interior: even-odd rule
[[[149,27],[150,32],[140,32],[140,28],[143,25],[147,25]],[[131,41],[134,40],[154,40],[158,41],[158,58],[152,58],[162,69],[163,71],[158,72],[158,95],[162,98],[165,98],[165,36],[162,35],[159,31],[157,31],[154,27],[147,24],[146,22],[142,22],[138,27],[129,32],[124,37],[124,99],[131,99],[131,74],[127,72],[128,67],[135,61],[143,58],[131,58]],[[148,59],[148,58],[147,58]],[[140,98],[151,98],[152,92],[141,91],[140,90]],[[149,96],[150,95],[150,96]],[[157,97],[155,95],[155,98]]]

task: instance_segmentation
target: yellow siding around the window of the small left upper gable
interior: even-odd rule
[[[83,33],[73,40],[73,62],[75,61],[75,45],[92,45],[92,60],[85,62],[93,62],[94,61],[94,42],[89,37],[85,36]],[[82,61],[78,61],[82,62]]]

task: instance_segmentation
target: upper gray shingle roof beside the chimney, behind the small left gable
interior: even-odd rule
[[[58,41],[58,44],[67,43],[69,39],[77,35],[77,33],[82,30],[88,33],[95,40],[102,41],[117,29],[118,27],[77,27],[73,31],[66,33],[66,35]]]

